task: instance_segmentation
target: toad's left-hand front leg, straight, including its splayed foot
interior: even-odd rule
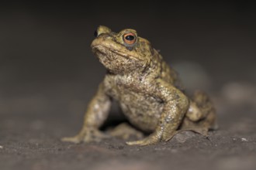
[[[103,84],[100,84],[95,97],[88,105],[85,113],[85,120],[81,131],[74,137],[62,138],[61,141],[69,141],[80,143],[81,141],[101,141],[102,138],[107,138],[106,134],[99,131],[100,126],[106,121],[111,105],[110,98],[104,91]]]

